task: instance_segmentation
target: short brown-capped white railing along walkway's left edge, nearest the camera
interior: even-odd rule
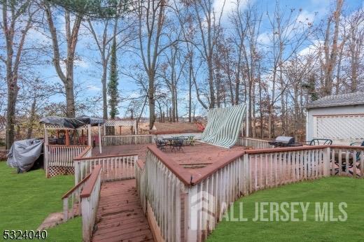
[[[101,165],[94,167],[94,170],[86,180],[85,186],[80,194],[83,241],[91,240],[92,231],[94,229],[101,190],[101,171]]]

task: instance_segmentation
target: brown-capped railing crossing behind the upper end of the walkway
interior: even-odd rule
[[[74,159],[75,183],[91,173],[97,164],[102,165],[102,181],[132,179],[135,177],[134,166],[137,160],[137,154],[76,157]]]

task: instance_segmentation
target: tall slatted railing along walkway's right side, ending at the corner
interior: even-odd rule
[[[158,150],[148,150],[144,171],[137,168],[137,190],[141,204],[148,220],[156,225],[151,225],[151,228],[159,228],[158,232],[153,232],[161,236],[158,241],[184,241],[184,224],[181,221],[184,221],[185,215],[188,175],[178,165],[174,167],[178,172],[172,172],[171,167],[167,167],[156,154],[163,156],[163,160],[168,159]]]

